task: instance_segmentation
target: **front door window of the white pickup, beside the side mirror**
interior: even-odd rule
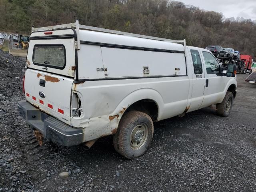
[[[219,74],[220,65],[215,57],[209,52],[203,51],[207,74]]]

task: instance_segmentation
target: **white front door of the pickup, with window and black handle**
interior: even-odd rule
[[[220,76],[220,64],[214,55],[208,51],[202,51],[202,57],[206,73],[201,108],[221,102],[225,86],[225,76]]]

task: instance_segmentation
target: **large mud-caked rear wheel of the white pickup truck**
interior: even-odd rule
[[[137,128],[140,126],[147,127],[147,131],[139,132],[136,137]],[[138,131],[136,132],[138,133]],[[113,144],[116,151],[128,159],[134,159],[142,156],[148,149],[153,138],[154,125],[150,116],[140,111],[129,111],[121,118],[118,130],[113,136]],[[141,136],[141,137],[140,137]],[[135,139],[140,139],[142,142],[134,142]],[[141,145],[136,148],[136,145]]]

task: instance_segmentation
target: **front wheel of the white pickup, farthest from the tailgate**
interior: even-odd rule
[[[218,115],[222,117],[229,116],[230,111],[232,110],[233,101],[234,101],[233,93],[228,91],[223,101],[221,103],[216,104]]]

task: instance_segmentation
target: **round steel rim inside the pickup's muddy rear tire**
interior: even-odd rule
[[[130,134],[130,146],[133,150],[139,150],[144,146],[148,138],[148,126],[144,123],[136,125]]]

